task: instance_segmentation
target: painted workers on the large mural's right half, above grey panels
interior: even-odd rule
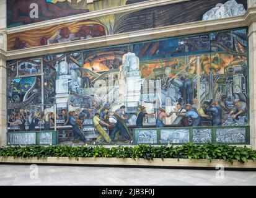
[[[229,110],[225,108],[225,110],[229,111],[227,116],[232,116],[232,119],[239,119],[239,116],[245,116],[247,113],[247,104],[244,101],[240,101],[239,99],[234,100],[234,107]],[[164,127],[164,118],[169,118],[173,114],[177,116],[177,124],[182,127],[188,126],[204,126],[208,124],[208,126],[221,126],[222,124],[222,112],[223,107],[219,103],[218,100],[204,101],[203,105],[196,110],[193,108],[191,104],[186,104],[183,107],[180,103],[177,103],[176,108],[174,108],[174,112],[166,113],[166,110],[163,108],[159,108],[156,113],[148,114],[146,113],[146,107],[139,106],[139,111],[137,113],[136,119],[136,127],[143,128],[144,118],[155,117],[156,119],[156,127]]]

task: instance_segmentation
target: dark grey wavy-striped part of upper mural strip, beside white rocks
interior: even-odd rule
[[[225,2],[227,1],[192,0],[132,12],[118,20],[116,33],[200,21],[207,11],[216,7],[216,4],[224,4]],[[246,0],[237,0],[236,2],[243,4],[244,8],[247,9]]]

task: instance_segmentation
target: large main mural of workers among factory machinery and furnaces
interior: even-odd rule
[[[248,126],[248,72],[246,29],[9,61],[8,129],[133,144],[147,128],[137,142],[156,144],[156,128],[181,127],[161,129],[164,144],[188,142],[182,127],[196,127],[204,143],[209,127]]]

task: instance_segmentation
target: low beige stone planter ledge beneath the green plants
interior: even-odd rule
[[[1,157],[0,157],[1,158]],[[76,158],[68,157],[48,157],[47,159],[33,158],[1,158],[0,163],[28,163],[28,164],[61,164],[61,165],[114,165],[114,166],[162,166],[162,167],[196,167],[196,168],[215,168],[223,166],[224,168],[256,168],[256,161],[248,160],[248,163],[239,163],[234,160],[233,165],[224,160],[212,160],[211,162],[205,159],[189,160],[189,159],[162,159],[154,158],[153,161],[139,158]]]

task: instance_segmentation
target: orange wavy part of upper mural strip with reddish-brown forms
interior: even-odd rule
[[[12,33],[7,36],[8,51],[36,46],[84,40],[107,35],[107,28],[95,20],[73,22],[51,27]]]

